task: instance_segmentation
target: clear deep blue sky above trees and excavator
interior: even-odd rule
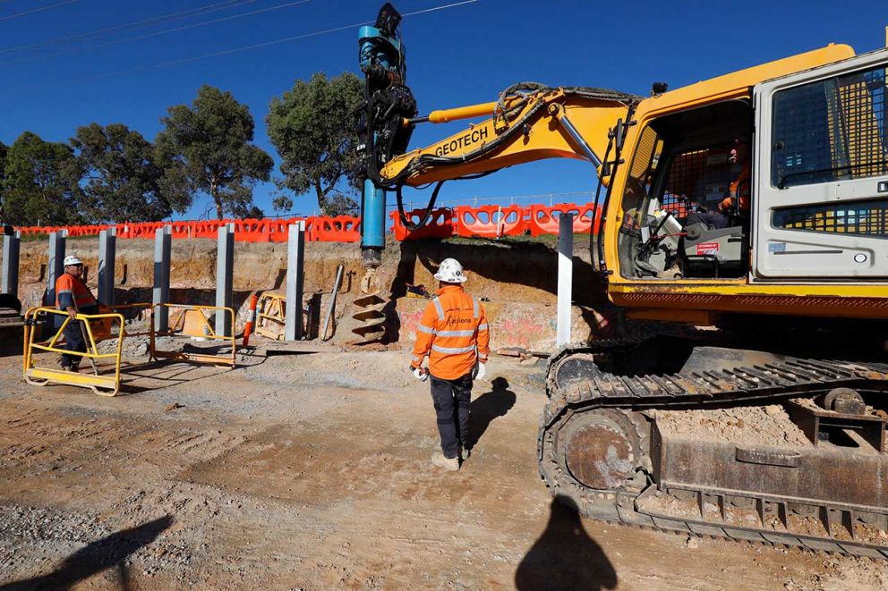
[[[412,13],[457,1],[397,0],[394,4],[401,13]],[[190,103],[201,84],[210,84],[230,90],[250,106],[257,123],[256,143],[277,158],[264,127],[270,99],[314,72],[358,72],[357,28],[375,20],[382,4],[381,0],[309,0],[303,4],[231,0],[221,10],[112,31],[98,40],[92,38],[89,44],[80,38],[32,46],[219,2],[0,1],[0,141],[11,144],[22,131],[34,131],[48,140],[67,140],[78,126],[90,122],[122,122],[154,139],[167,106]],[[60,5],[29,13],[55,4]],[[190,27],[263,9],[271,10]],[[477,0],[408,16],[401,30],[408,50],[407,81],[425,114],[435,108],[495,100],[501,89],[524,80],[647,94],[654,80],[667,81],[674,89],[830,42],[847,43],[863,53],[884,46],[886,24],[888,4],[875,0]],[[184,27],[189,28],[153,35]],[[335,31],[320,33],[327,30]],[[320,34],[186,61],[313,33]],[[135,37],[141,38],[128,40]],[[15,49],[21,46],[32,47]],[[420,126],[414,132],[413,147],[464,125]],[[474,198],[554,194],[555,201],[585,201],[582,195],[570,194],[591,191],[593,186],[591,165],[550,160],[473,182],[449,183],[439,199],[472,202]],[[271,185],[256,189],[255,201],[267,214],[272,213],[274,193]],[[406,198],[418,204],[428,193],[406,191]],[[316,207],[311,195],[294,200],[300,213],[311,214]],[[200,217],[208,205],[209,198],[198,198],[183,217]]]

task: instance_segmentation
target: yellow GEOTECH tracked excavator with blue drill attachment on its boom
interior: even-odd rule
[[[428,218],[442,182],[576,158],[598,181],[593,272],[657,327],[551,355],[551,494],[593,519],[888,559],[888,49],[649,97],[518,84],[417,117],[399,20],[386,4],[360,35],[369,274],[387,192],[404,216],[402,187],[437,183]],[[482,117],[406,148],[417,124]]]

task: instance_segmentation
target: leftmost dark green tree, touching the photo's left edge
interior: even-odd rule
[[[70,146],[25,131],[6,152],[3,211],[15,225],[79,224],[81,169]]]

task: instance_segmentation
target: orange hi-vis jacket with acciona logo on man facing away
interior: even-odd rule
[[[410,365],[420,367],[428,355],[432,376],[455,380],[472,371],[476,361],[487,362],[490,342],[481,303],[461,285],[445,285],[423,312]]]

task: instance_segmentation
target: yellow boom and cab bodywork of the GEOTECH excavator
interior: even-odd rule
[[[416,149],[393,158],[384,167],[384,179],[405,178],[408,185],[454,179],[468,174],[485,173],[511,165],[549,157],[586,159],[599,166],[602,184],[610,189],[603,236],[603,262],[609,270],[610,300],[627,308],[630,317],[649,320],[714,324],[724,312],[805,317],[888,318],[888,278],[881,276],[828,278],[778,277],[767,280],[756,277],[751,270],[730,278],[637,277],[628,273],[619,256],[620,228],[626,223],[628,196],[632,194],[631,176],[634,157],[657,147],[645,139],[649,124],[664,117],[699,112],[713,105],[747,105],[752,128],[752,103],[756,85],[766,80],[780,80],[799,72],[854,57],[850,46],[830,45],[800,55],[765,63],[712,80],[639,99],[631,107],[623,100],[589,98],[572,95],[566,89],[546,89],[525,94],[524,100],[510,98],[502,105],[488,103],[435,112],[435,121],[453,121],[494,112],[494,116],[454,134],[427,148]],[[885,59],[888,62],[888,57]],[[757,108],[757,107],[756,107]],[[499,113],[497,110],[499,109]],[[535,115],[531,115],[531,114]],[[507,116],[508,114],[508,116]],[[566,132],[569,120],[581,136]],[[631,120],[629,125],[620,123]],[[513,129],[520,125],[521,129]],[[622,132],[621,163],[610,178],[607,160],[610,139]],[[478,156],[479,148],[491,140],[506,137],[499,148]],[[610,133],[610,136],[609,136]],[[585,147],[581,144],[585,142]],[[645,144],[647,142],[647,144]],[[599,162],[589,156],[598,155]],[[602,157],[602,155],[605,155]],[[433,156],[444,156],[462,163],[438,165]],[[756,176],[754,163],[753,177]],[[593,171],[594,172],[594,169]],[[753,181],[755,182],[755,181]],[[753,185],[753,202],[756,193]],[[603,205],[600,204],[600,205]],[[888,215],[888,214],[883,214]],[[754,218],[748,232],[755,235],[760,221]],[[879,236],[879,238],[884,238]],[[747,239],[748,240],[748,239]],[[594,240],[593,240],[594,241]],[[750,241],[749,252],[755,244]],[[749,255],[752,261],[755,253]],[[718,274],[716,274],[718,277]]]

